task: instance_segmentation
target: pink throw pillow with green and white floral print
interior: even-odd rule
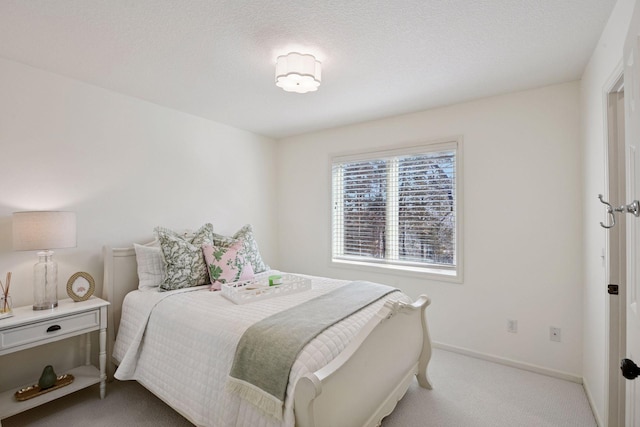
[[[241,241],[231,246],[202,245],[212,291],[219,291],[222,283],[253,279],[253,268],[242,255],[242,248]]]

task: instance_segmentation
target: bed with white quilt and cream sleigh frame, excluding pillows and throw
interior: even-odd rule
[[[312,290],[236,305],[202,286],[139,291],[134,248],[104,247],[103,253],[103,297],[111,303],[109,375],[119,366],[116,378],[138,381],[195,425],[377,426],[414,376],[431,389],[430,299],[412,302],[392,292],[309,342],[291,369],[282,419],[265,415],[224,387],[245,323],[347,282],[309,277]],[[232,320],[232,313],[241,320]],[[191,317],[196,315],[205,320]],[[226,344],[207,341],[219,339]]]

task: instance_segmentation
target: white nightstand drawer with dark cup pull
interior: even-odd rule
[[[59,335],[88,332],[98,329],[99,325],[100,311],[94,310],[6,329],[0,331],[0,350],[45,341]]]

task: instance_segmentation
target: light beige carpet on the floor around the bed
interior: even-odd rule
[[[580,384],[436,349],[433,390],[413,382],[383,427],[595,427]],[[3,427],[191,426],[133,381],[97,386],[2,420]],[[348,426],[334,426],[348,427]]]

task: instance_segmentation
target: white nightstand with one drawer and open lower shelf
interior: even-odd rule
[[[66,372],[56,372],[58,375],[73,375],[73,383],[22,402],[14,397],[21,387],[0,393],[0,420],[97,383],[100,383],[100,398],[104,398],[108,305],[107,301],[96,297],[81,302],[64,299],[53,310],[34,311],[31,306],[18,307],[13,310],[13,317],[0,320],[0,356],[86,334],[85,364]],[[100,331],[99,369],[91,365],[90,360],[89,332],[97,330]],[[37,382],[38,378],[34,378],[24,386]]]

